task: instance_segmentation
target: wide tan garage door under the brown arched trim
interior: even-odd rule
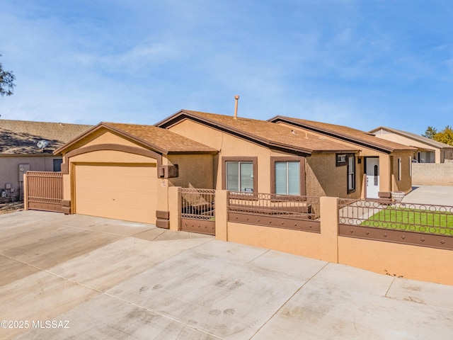
[[[156,166],[81,165],[75,169],[76,213],[156,222]]]

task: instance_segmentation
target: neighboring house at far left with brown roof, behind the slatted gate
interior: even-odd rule
[[[52,152],[90,127],[0,119],[0,202],[21,198],[26,171],[59,171]]]

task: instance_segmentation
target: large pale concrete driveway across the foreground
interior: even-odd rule
[[[451,339],[453,287],[153,225],[0,216],[0,339]]]

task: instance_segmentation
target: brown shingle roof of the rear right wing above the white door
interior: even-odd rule
[[[338,138],[339,140],[345,140],[356,145],[362,145],[365,147],[370,147],[372,149],[379,149],[385,152],[393,152],[395,150],[413,150],[412,147],[408,147],[407,145],[391,142],[389,140],[383,140],[382,138],[378,138],[369,132],[349,128],[343,125],[321,123],[313,120],[285,117],[282,115],[277,115],[274,118],[270,118],[269,121],[273,123],[285,122],[293,124],[294,126],[299,126],[300,128],[319,132],[331,137]]]

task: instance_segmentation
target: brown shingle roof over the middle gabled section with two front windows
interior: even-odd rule
[[[210,125],[212,128],[224,130],[238,137],[243,137],[253,142],[311,154],[311,152],[355,152],[357,148],[349,147],[339,142],[323,139],[312,134],[294,131],[282,125],[270,123],[265,120],[250,118],[234,119],[230,115],[218,115],[198,111],[182,110],[166,120],[157,123],[157,126],[168,128],[179,120],[190,118],[199,123]]]

